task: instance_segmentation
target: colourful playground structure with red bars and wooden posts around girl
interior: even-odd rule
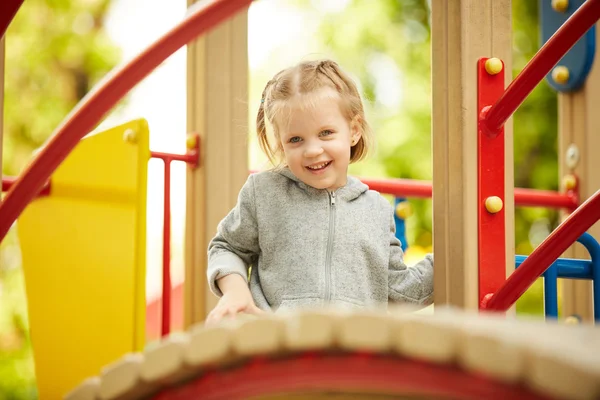
[[[9,1],[2,5],[2,34],[21,3]],[[366,397],[376,393],[389,397],[599,397],[597,327],[527,323],[489,316],[485,311],[506,312],[544,274],[546,295],[550,297],[556,293],[553,284],[557,277],[593,280],[594,295],[589,282],[569,283],[573,287],[567,288],[565,309],[568,315],[580,315],[585,321],[591,321],[594,315],[600,319],[600,268],[596,267],[598,250],[593,240],[600,235],[598,224],[594,226],[600,219],[600,161],[593,157],[594,149],[600,148],[600,136],[593,132],[600,122],[593,112],[600,96],[600,68],[588,65],[586,71],[584,63],[579,73],[567,69],[566,78],[567,67],[554,68],[600,18],[600,1],[570,1],[565,9],[560,7],[564,1],[554,1],[555,8],[550,12],[560,13],[560,29],[548,35],[552,37],[510,85],[506,84],[511,79],[510,1],[432,2],[433,185],[365,181],[372,189],[396,196],[433,194],[433,316],[404,311],[389,315],[323,311],[242,320],[205,329],[196,324],[201,324],[214,305],[205,284],[207,240],[235,203],[248,174],[247,149],[232,140],[244,132],[232,121],[246,115],[234,99],[247,92],[244,77],[249,3],[215,0],[190,8],[177,27],[86,96],[29,168],[16,181],[6,181],[10,189],[0,203],[0,237],[18,218],[41,397],[63,396],[91,375],[99,376],[85,380],[67,398],[142,398],[151,393],[158,393],[157,398],[162,399],[189,398],[199,393],[203,398],[277,398],[286,393],[318,398],[333,389]],[[591,32],[596,34],[596,30]],[[204,36],[195,39],[201,34]],[[589,42],[589,34],[586,38]],[[131,87],[194,39],[188,47],[188,131],[198,132],[198,136],[190,136],[188,154],[152,154],[148,149],[148,127],[143,121],[132,121],[81,140]],[[559,154],[569,154],[561,160],[562,194],[516,189],[513,184],[509,117],[548,73],[554,84],[562,85],[557,88],[567,90],[559,94]],[[582,73],[587,79],[581,78]],[[577,85],[570,86],[573,82]],[[82,182],[82,168],[89,171],[90,165],[104,165],[92,164],[94,154],[102,159],[103,146],[119,149],[113,157],[114,165]],[[140,247],[144,246],[145,232],[140,216],[145,210],[145,164],[151,156],[165,160],[166,171],[170,160],[189,163],[184,310],[186,327],[195,326],[184,335],[168,335],[171,285],[165,279],[165,338],[142,352],[145,301],[140,280],[144,252]],[[117,178],[115,171],[126,170],[132,172],[131,176]],[[167,188],[166,184],[166,199]],[[79,210],[73,208],[74,198],[83,199],[77,203]],[[108,199],[109,206],[99,206],[99,198]],[[121,254],[105,254],[122,260],[120,265],[129,277],[119,280],[118,293],[113,295],[116,302],[129,299],[127,307],[121,307],[123,312],[115,316],[122,332],[107,334],[97,326],[106,323],[117,303],[91,301],[94,295],[102,294],[90,292],[89,287],[86,290],[85,285],[108,286],[114,284],[115,277],[125,277],[118,268],[110,272],[103,269],[110,261],[98,258],[96,264],[86,265],[83,275],[81,270],[66,268],[65,276],[81,283],[81,290],[67,293],[65,288],[57,304],[44,305],[48,289],[36,286],[36,282],[48,282],[44,266],[51,257],[62,256],[56,254],[50,242],[61,224],[48,224],[39,232],[45,224],[40,221],[49,215],[47,208],[62,207],[77,218],[89,219],[73,235],[75,244],[75,240],[92,233],[90,230],[97,225],[94,218],[105,218],[102,213],[115,208],[111,202],[122,206],[121,218],[128,221],[123,225],[129,223],[132,230],[123,230],[115,238],[123,245]],[[570,214],[529,257],[519,258],[512,247],[515,204],[560,207]],[[164,217],[168,222],[168,207]],[[397,217],[401,220],[402,213]],[[72,227],[65,222],[61,222],[62,228],[69,233]],[[168,229],[165,232],[168,248]],[[114,232],[100,230],[93,234],[108,236]],[[569,250],[569,255],[578,260],[559,259],[577,240],[587,243],[592,260],[583,260],[586,255],[579,247]],[[85,240],[81,243],[77,255],[81,258],[74,266],[85,264],[87,261],[82,260],[90,257],[89,251],[95,250],[99,256],[106,253],[86,248]],[[165,252],[166,267],[167,255]],[[520,266],[515,270],[516,264]],[[110,280],[104,285],[92,281],[106,280],[108,274]],[[73,301],[81,304],[74,307]],[[464,311],[444,313],[438,310],[443,305]],[[81,311],[85,309],[85,318],[90,320],[78,321],[79,330],[72,323],[62,326],[60,319],[50,319],[48,312],[52,309],[53,315],[63,316],[62,321],[72,320],[74,315],[83,317]],[[548,299],[547,315],[556,317],[555,309],[552,299]],[[477,310],[485,315],[478,315]],[[75,340],[87,349],[85,353],[79,351]],[[103,354],[94,353],[92,347],[100,347]],[[56,353],[50,354],[49,349]],[[131,354],[119,358],[126,353]],[[63,371],[53,368],[58,360]],[[341,366],[348,366],[351,372],[344,373]]]

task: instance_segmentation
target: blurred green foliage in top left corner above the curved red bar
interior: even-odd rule
[[[109,0],[26,1],[6,36],[2,170],[33,149],[119,59],[103,30]]]

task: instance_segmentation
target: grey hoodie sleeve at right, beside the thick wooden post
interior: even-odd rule
[[[388,286],[388,297],[392,301],[422,305],[433,302],[433,255],[428,254],[413,267],[404,263],[393,214],[390,225]]]

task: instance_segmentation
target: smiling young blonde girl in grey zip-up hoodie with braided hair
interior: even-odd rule
[[[220,300],[206,322],[324,304],[430,304],[432,256],[407,268],[391,204],[348,176],[371,132],[340,67],[324,60],[279,72],[256,125],[277,167],[248,177],[210,242],[208,281]]]

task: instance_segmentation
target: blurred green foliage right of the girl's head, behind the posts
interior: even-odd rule
[[[431,29],[427,0],[292,0],[303,9],[319,8],[318,40],[362,84],[378,151],[356,174],[431,179]],[[537,1],[513,2],[513,76],[540,47]],[[514,115],[515,186],[558,188],[556,93],[542,82]],[[431,201],[414,200],[416,218],[407,221],[409,243],[431,246]],[[541,208],[515,212],[518,254],[529,254],[558,222]],[[540,297],[540,286],[532,289]],[[526,300],[523,310],[539,312],[541,303]]]

